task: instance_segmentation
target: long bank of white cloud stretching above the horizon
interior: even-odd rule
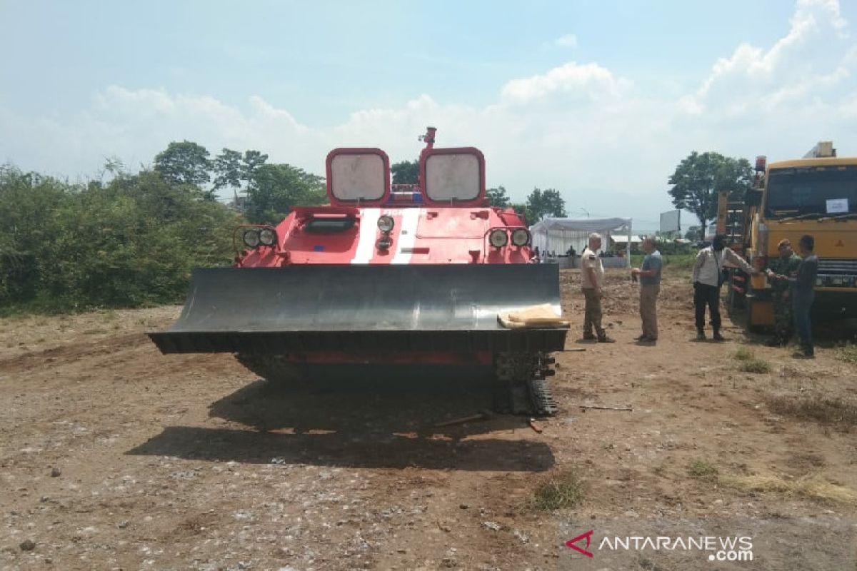
[[[857,44],[838,3],[801,0],[782,39],[737,46],[711,63],[692,92],[646,92],[597,62],[566,62],[509,80],[491,104],[421,94],[321,128],[258,96],[231,105],[109,86],[71,117],[0,108],[0,161],[92,175],[105,157],[136,168],[171,140],[187,139],[213,154],[224,146],[256,149],[322,173],[335,146],[380,146],[393,161],[417,158],[417,135],[434,125],[439,146],[481,148],[488,184],[504,185],[513,199],[533,186],[555,187],[569,211],[633,216],[654,228],[657,212],[670,208],[668,175],[692,150],[788,158],[832,139],[842,154],[857,154],[855,62]]]

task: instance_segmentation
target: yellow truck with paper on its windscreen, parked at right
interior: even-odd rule
[[[857,157],[836,157],[831,141],[820,141],[803,158],[767,164],[756,158],[756,181],[740,201],[718,197],[717,232],[758,270],[788,238],[797,252],[800,236],[815,238],[818,279],[813,317],[818,321],[857,317]],[[728,307],[744,307],[751,330],[774,324],[771,289],[763,274],[730,268]]]

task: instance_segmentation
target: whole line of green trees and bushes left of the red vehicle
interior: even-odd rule
[[[108,181],[69,182],[0,165],[0,313],[181,301],[197,266],[228,265],[242,223],[279,223],[323,204],[321,176],[258,151],[211,157],[173,141],[153,168],[105,164]],[[234,207],[218,193],[231,190]]]

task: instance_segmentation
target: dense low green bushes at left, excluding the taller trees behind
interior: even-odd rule
[[[66,312],[182,300],[195,266],[229,262],[239,223],[155,172],[72,184],[0,167],[0,306]]]

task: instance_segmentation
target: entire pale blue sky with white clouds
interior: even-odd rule
[[[857,155],[857,3],[0,0],[0,162],[71,178],[170,140],[320,173],[472,145],[513,199],[656,226],[697,150]],[[683,221],[692,222],[691,215]]]

